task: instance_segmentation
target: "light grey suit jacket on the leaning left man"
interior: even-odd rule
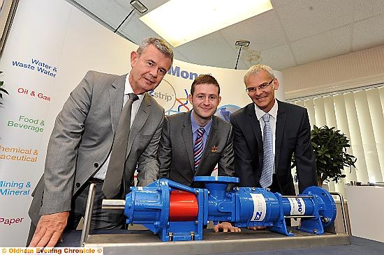
[[[45,170],[32,196],[29,216],[71,210],[71,198],[103,165],[112,148],[124,100],[126,75],[89,71],[72,91],[56,118],[47,148]],[[128,137],[124,187],[133,185],[138,164],[138,185],[158,176],[156,153],[164,109],[151,95],[145,97]]]

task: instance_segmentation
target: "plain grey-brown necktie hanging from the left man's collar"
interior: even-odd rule
[[[110,163],[103,184],[103,193],[107,199],[112,199],[120,192],[121,180],[123,179],[124,166],[126,162],[126,149],[128,147],[129,130],[131,129],[132,104],[138,100],[138,95],[129,93],[121,111],[119,123],[117,124],[115,139],[113,141]]]

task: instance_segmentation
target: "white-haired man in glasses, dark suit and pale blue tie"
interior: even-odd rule
[[[275,99],[279,81],[266,65],[249,68],[244,83],[253,102],[230,116],[235,174],[240,178],[240,185],[268,187],[272,192],[294,195],[290,169],[293,154],[300,193],[316,185],[307,109]]]

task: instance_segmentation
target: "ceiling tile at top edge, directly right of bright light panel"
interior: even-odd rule
[[[353,22],[350,0],[300,0],[276,8],[290,41]]]

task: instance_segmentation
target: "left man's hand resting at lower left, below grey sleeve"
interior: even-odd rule
[[[40,217],[29,247],[54,247],[66,228],[69,212],[57,212]]]

